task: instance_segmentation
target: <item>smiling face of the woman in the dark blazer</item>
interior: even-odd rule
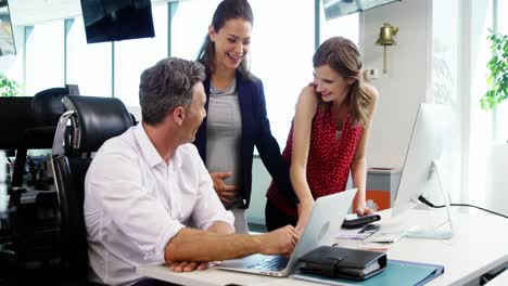
[[[249,52],[252,24],[245,18],[226,21],[217,31],[209,26],[208,35],[215,44],[215,66],[218,69],[237,69]]]

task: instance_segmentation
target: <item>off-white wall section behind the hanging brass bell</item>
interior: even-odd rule
[[[399,168],[420,103],[430,81],[431,1],[404,0],[366,11],[360,17],[364,67],[379,69],[373,84],[379,101],[368,146],[369,167]],[[388,75],[382,74],[383,47],[376,46],[380,27],[399,28],[396,46],[388,47]]]

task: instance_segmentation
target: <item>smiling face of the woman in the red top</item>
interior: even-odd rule
[[[355,81],[345,78],[329,65],[314,68],[314,84],[322,101],[342,103],[350,91],[350,86]]]

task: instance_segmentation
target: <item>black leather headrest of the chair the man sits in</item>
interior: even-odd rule
[[[94,152],[106,140],[124,133],[134,125],[124,103],[114,98],[67,95],[62,100],[67,110],[74,110],[77,134],[73,148]]]

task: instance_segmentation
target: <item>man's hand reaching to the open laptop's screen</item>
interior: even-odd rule
[[[284,227],[263,234],[262,239],[263,255],[290,256],[300,240],[300,233],[292,225],[285,225]]]

